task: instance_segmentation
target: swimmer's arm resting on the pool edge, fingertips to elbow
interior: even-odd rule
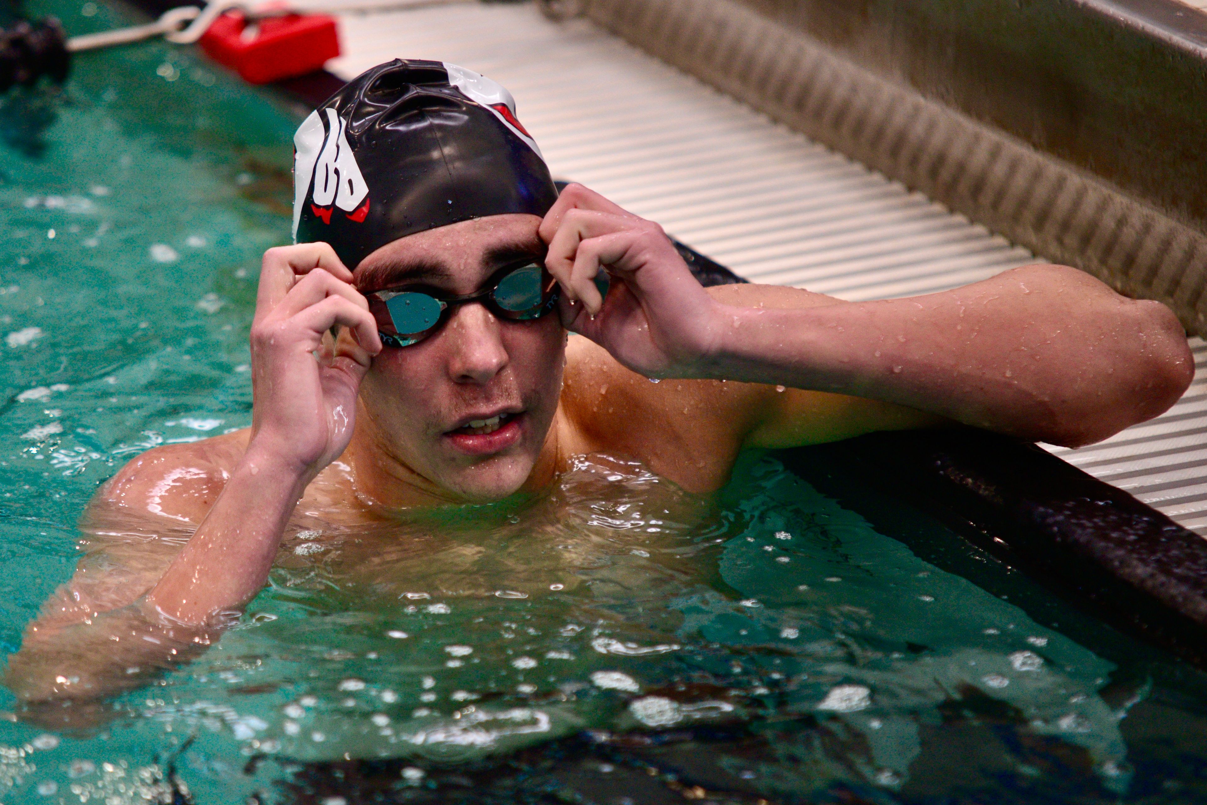
[[[562,287],[567,328],[647,377],[833,392],[1079,445],[1166,410],[1194,373],[1185,334],[1167,308],[1127,299],[1065,266],[1027,266],[882,302],[844,303],[770,286],[710,294],[658,224],[577,185],[550,209],[541,237],[549,244],[546,264]],[[613,280],[606,299],[593,282],[601,268]],[[756,442],[779,442],[799,427],[793,406],[781,401],[766,410]],[[884,419],[885,412],[896,413]],[[855,403],[838,414],[832,421],[840,432],[908,419]],[[842,416],[855,421],[844,425]]]

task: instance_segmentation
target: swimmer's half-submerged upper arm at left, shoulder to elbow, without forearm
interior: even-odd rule
[[[204,454],[223,441],[150,450],[98,490],[81,519],[84,555],[75,574],[8,658],[4,683],[18,699],[34,707],[99,700],[141,687],[208,644],[204,630],[164,620],[145,596],[222,491],[227,474]]]

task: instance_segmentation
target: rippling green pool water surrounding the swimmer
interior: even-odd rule
[[[250,422],[296,119],[162,43],[0,103],[6,654],[70,577],[100,483]],[[538,500],[291,532],[215,647],[88,723],[48,733],[0,689],[0,803],[1207,795],[1196,672],[911,523],[958,561],[774,456],[713,498],[584,456]]]

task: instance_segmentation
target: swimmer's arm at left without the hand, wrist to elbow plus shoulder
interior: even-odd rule
[[[105,530],[106,513],[123,508],[117,497],[138,512],[142,530],[180,538],[93,555],[52,596],[5,671],[31,721],[57,717],[56,702],[95,702],[142,687],[204,652],[263,587],[305,486],[255,449],[229,473],[197,462],[140,473],[133,463],[94,501],[92,530]],[[94,714],[80,710],[75,718]]]

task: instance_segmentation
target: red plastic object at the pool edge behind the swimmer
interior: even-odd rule
[[[249,83],[314,72],[339,56],[336,18],[326,14],[267,17],[249,28],[241,13],[228,12],[214,21],[199,43]]]

